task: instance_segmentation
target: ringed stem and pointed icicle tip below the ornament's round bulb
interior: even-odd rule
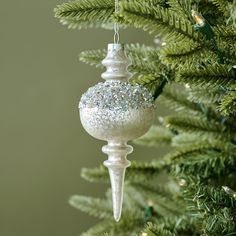
[[[133,151],[133,147],[126,143],[108,142],[108,145],[102,147],[102,151],[108,155],[104,165],[109,170],[111,180],[114,219],[119,221],[122,212],[125,170],[130,166],[126,156]]]

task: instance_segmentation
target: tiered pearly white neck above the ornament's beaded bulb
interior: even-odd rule
[[[131,77],[131,73],[127,71],[130,60],[125,55],[123,44],[108,44],[107,56],[102,64],[107,68],[102,74],[102,78],[105,80],[126,82]]]

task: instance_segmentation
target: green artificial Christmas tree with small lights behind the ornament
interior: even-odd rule
[[[236,28],[234,0],[76,0],[55,8],[71,28],[134,26],[159,46],[131,44],[126,52],[134,84],[173,108],[135,142],[170,145],[161,160],[134,162],[127,171],[119,223],[107,199],[73,196],[70,203],[102,220],[83,236],[236,235]],[[161,41],[161,42],[160,42]],[[102,67],[105,50],[81,53]],[[167,173],[164,186],[159,174]],[[104,167],[83,169],[107,181]]]

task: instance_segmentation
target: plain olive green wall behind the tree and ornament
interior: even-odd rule
[[[107,186],[80,178],[81,167],[106,158],[103,142],[85,133],[77,104],[101,71],[79,52],[104,48],[112,32],[68,30],[54,19],[63,1],[1,1],[0,235],[73,236],[95,221],[68,204],[72,194],[102,196]],[[123,42],[153,43],[126,30]],[[135,148],[130,159],[154,158]]]

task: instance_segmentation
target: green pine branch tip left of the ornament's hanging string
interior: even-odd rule
[[[111,0],[75,0],[58,5],[55,17],[69,28],[107,27],[114,22]]]

